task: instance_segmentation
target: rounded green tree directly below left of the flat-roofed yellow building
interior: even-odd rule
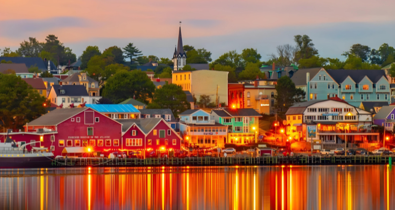
[[[190,103],[186,100],[185,92],[175,84],[164,85],[162,88],[156,89],[152,103],[160,109],[171,109],[176,118],[180,113],[191,108]],[[151,107],[149,106],[149,108]]]

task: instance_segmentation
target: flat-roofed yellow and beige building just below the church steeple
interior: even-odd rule
[[[191,92],[199,100],[200,95],[209,95],[215,102],[217,95],[219,103],[228,103],[228,72],[214,70],[173,71],[172,82],[182,90]]]

